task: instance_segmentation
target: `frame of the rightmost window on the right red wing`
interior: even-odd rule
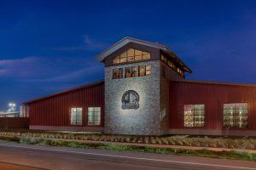
[[[224,126],[224,105],[230,105],[230,104],[234,104],[235,108],[236,108],[236,104],[247,104],[247,127],[225,127]],[[230,129],[230,130],[248,130],[250,128],[250,124],[249,124],[250,105],[249,104],[250,103],[248,101],[223,103],[223,105],[222,105],[222,126],[223,126],[223,129],[224,130],[226,130],[226,129]]]

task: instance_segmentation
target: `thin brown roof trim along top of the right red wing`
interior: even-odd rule
[[[236,83],[236,82],[212,82],[212,81],[197,81],[197,80],[173,80],[170,82],[190,82],[190,83],[203,83],[213,85],[228,85],[228,86],[240,86],[248,88],[256,88],[256,83]]]

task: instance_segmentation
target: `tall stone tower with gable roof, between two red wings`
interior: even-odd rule
[[[169,81],[189,68],[166,45],[131,37],[96,59],[105,64],[105,133],[168,133]]]

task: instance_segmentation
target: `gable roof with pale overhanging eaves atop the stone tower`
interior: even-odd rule
[[[185,65],[183,63],[183,61],[181,59],[179,59],[177,57],[177,55],[174,54],[172,52],[172,50],[170,48],[168,48],[165,44],[162,44],[162,43],[159,43],[159,42],[148,42],[148,41],[137,39],[137,38],[134,38],[134,37],[124,37],[124,38],[122,38],[121,40],[119,40],[119,42],[116,42],[112,46],[110,46],[109,48],[103,50],[102,53],[97,54],[96,59],[102,62],[104,59],[106,59],[108,57],[108,55],[113,54],[113,52],[115,52],[119,48],[124,47],[126,44],[128,44],[130,42],[134,42],[134,43],[145,45],[145,46],[152,47],[152,48],[159,48],[162,52],[164,52],[168,55],[171,55],[172,58],[174,58],[177,61],[177,63],[183,67],[184,71],[187,71],[189,73],[192,72],[189,69],[189,67],[187,65]]]

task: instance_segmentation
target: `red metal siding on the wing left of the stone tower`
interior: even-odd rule
[[[31,126],[61,127],[87,127],[87,108],[99,106],[102,108],[101,127],[104,127],[104,82],[38,99],[26,105],[29,107]],[[83,108],[82,126],[70,125],[72,107]]]

